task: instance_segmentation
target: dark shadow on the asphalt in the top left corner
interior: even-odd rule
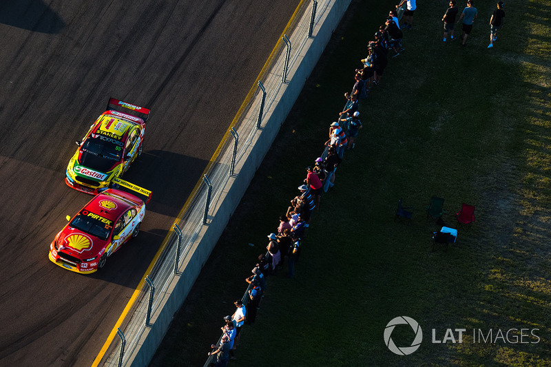
[[[65,21],[41,0],[3,1],[0,23],[40,33],[59,33]]]

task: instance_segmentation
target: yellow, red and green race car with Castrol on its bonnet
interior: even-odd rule
[[[117,111],[116,108],[121,109]],[[151,111],[110,98],[107,111],[90,127],[67,166],[65,183],[96,195],[108,189],[138,158],[143,149],[145,122]]]

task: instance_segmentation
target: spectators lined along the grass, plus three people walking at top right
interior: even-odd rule
[[[403,10],[401,6],[404,3],[407,4],[404,23],[399,25],[399,12]],[[464,44],[472,29],[472,20],[477,14],[473,1],[467,1],[466,10],[461,12],[459,18],[455,0],[451,0],[449,5],[450,8],[442,18],[443,41],[447,40],[448,34],[450,39],[454,39],[453,24],[463,21],[464,25],[470,25],[462,29],[461,40]],[[229,359],[235,359],[242,326],[245,323],[253,324],[260,309],[266,291],[266,278],[284,271],[284,267],[287,267],[287,276],[294,277],[295,264],[298,262],[302,243],[315,211],[320,209],[322,196],[335,185],[335,174],[344,161],[344,154],[354,149],[355,140],[363,127],[359,112],[360,101],[381,83],[388,60],[404,51],[402,29],[413,29],[413,14],[416,8],[415,0],[404,0],[399,3],[395,10],[388,13],[384,24],[375,32],[373,40],[368,42],[367,56],[360,60],[358,68],[355,69],[351,91],[344,94],[344,109],[337,114],[337,120],[329,126],[329,136],[324,143],[322,155],[315,159],[311,166],[306,167],[304,182],[298,186],[298,193],[290,200],[287,211],[280,216],[277,230],[267,235],[267,252],[258,256],[252,275],[245,279],[249,284],[247,293],[242,299],[234,302],[236,309],[233,315],[224,317],[225,324],[221,328],[220,342],[211,345],[209,352],[209,356],[216,356],[216,361],[212,361],[211,366],[225,367]],[[505,14],[502,1],[499,1],[497,10],[501,12],[494,12],[490,19],[491,34],[488,48],[495,42],[497,30],[503,26]]]

